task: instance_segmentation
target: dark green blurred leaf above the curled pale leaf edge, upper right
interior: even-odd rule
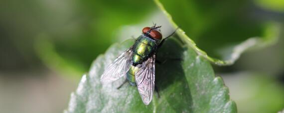
[[[267,36],[265,21],[254,16],[249,0],[161,0],[173,20],[209,56],[223,58],[218,50],[251,37]],[[182,11],[181,11],[182,10]]]

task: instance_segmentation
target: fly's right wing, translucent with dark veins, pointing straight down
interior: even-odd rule
[[[139,70],[135,74],[136,85],[143,103],[148,105],[155,87],[155,54],[137,66]]]

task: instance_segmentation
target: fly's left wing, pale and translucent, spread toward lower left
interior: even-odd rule
[[[124,75],[126,75],[131,64],[132,48],[122,53],[117,57],[107,68],[101,76],[101,82],[107,84],[113,82]]]

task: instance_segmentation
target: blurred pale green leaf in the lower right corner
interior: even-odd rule
[[[239,113],[277,113],[284,107],[284,85],[263,73],[221,74]]]

